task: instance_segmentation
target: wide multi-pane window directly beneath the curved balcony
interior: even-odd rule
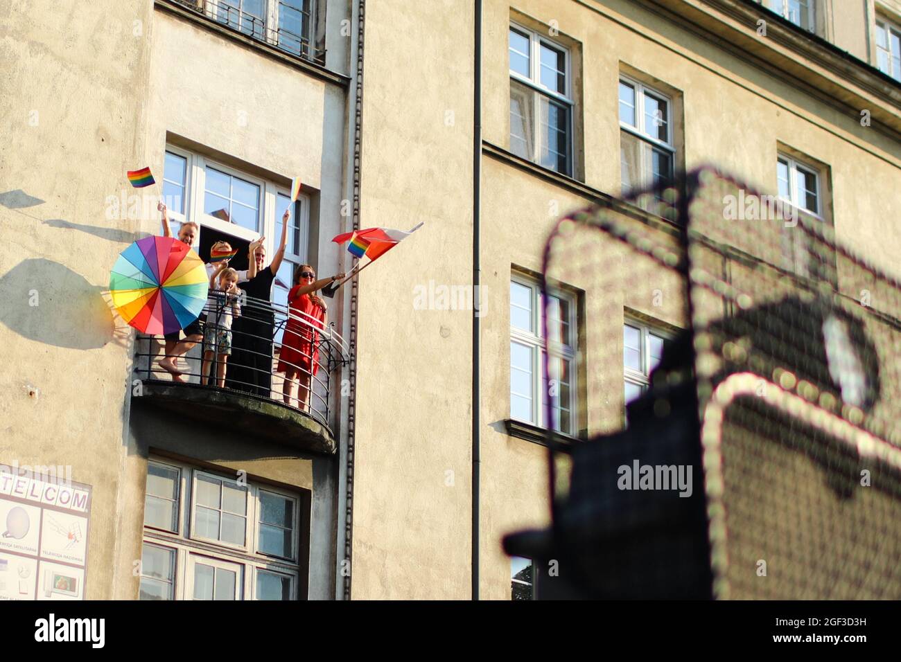
[[[296,600],[301,495],[148,462],[141,600]]]

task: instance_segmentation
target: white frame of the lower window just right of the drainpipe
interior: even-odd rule
[[[542,375],[544,366],[542,363],[542,355],[549,349],[553,350],[554,356],[562,358],[569,363],[569,403],[560,403],[564,408],[569,409],[569,430],[560,429],[561,434],[575,436],[575,429],[578,427],[578,370],[577,368],[577,341],[578,341],[578,311],[577,300],[574,295],[556,290],[551,292],[552,296],[566,301],[569,304],[569,338],[565,342],[556,340],[546,340],[542,337],[542,288],[538,282],[530,277],[513,272],[510,280],[520,286],[530,289],[532,297],[532,329],[534,332],[524,331],[514,327],[513,320],[510,320],[510,343],[514,342],[521,345],[527,345],[532,349],[532,417],[530,419],[517,418],[513,414],[513,408],[510,408],[510,418],[515,421],[522,421],[538,427],[550,427],[550,422],[544,421],[544,395],[542,394]],[[510,302],[513,305],[513,302]],[[509,307],[507,308],[509,311]],[[512,395],[513,384],[507,389]],[[548,396],[550,397],[550,395]],[[512,400],[512,398],[511,398]]]

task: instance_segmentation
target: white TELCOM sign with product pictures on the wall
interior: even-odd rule
[[[91,487],[0,472],[0,600],[84,600]]]

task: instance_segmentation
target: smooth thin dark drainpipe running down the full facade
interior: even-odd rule
[[[482,0],[475,6],[475,53],[472,107],[472,599],[478,600],[478,519],[479,468],[481,440],[479,438],[479,339],[481,293],[481,263],[479,260],[479,213],[482,202]]]

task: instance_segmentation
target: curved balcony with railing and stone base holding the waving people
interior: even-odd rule
[[[332,325],[320,327],[286,306],[237,298],[241,314],[233,319],[230,338],[222,335],[227,322],[214,324],[229,303],[222,294],[215,306],[205,306],[199,328],[189,326],[184,340],[138,335],[132,404],[333,455],[333,404],[341,397],[333,385],[341,384],[341,367],[350,359],[347,343]],[[196,344],[189,347],[189,339]],[[174,358],[175,371],[160,364],[165,358]]]

